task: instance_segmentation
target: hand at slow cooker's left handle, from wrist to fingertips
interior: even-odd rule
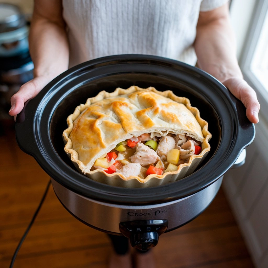
[[[10,99],[9,115],[14,116],[14,120],[16,120],[16,116],[23,109],[24,103],[34,98],[50,81],[51,78],[48,76],[37,76],[23,84]]]

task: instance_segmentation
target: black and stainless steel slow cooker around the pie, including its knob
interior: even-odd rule
[[[187,97],[209,123],[211,150],[191,175],[157,187],[121,188],[93,181],[75,169],[64,152],[66,118],[99,91],[131,85]],[[150,55],[114,55],[77,65],[25,103],[16,120],[18,145],[50,175],[62,205],[88,226],[129,237],[141,250],[155,246],[161,233],[186,224],[209,206],[223,175],[254,136],[245,107],[218,80],[183,62]]]

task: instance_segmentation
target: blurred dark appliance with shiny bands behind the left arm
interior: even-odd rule
[[[10,98],[33,78],[29,20],[20,8],[0,3],[0,120],[10,118]]]

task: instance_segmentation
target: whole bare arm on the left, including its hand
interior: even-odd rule
[[[11,97],[9,114],[15,116],[24,103],[34,98],[52,79],[68,69],[69,44],[62,17],[62,1],[36,0],[29,33],[29,50],[34,79]]]

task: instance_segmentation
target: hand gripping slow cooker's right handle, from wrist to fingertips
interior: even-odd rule
[[[245,80],[236,77],[225,80],[223,84],[245,105],[248,120],[254,124],[258,123],[260,104],[253,88],[251,88]]]

